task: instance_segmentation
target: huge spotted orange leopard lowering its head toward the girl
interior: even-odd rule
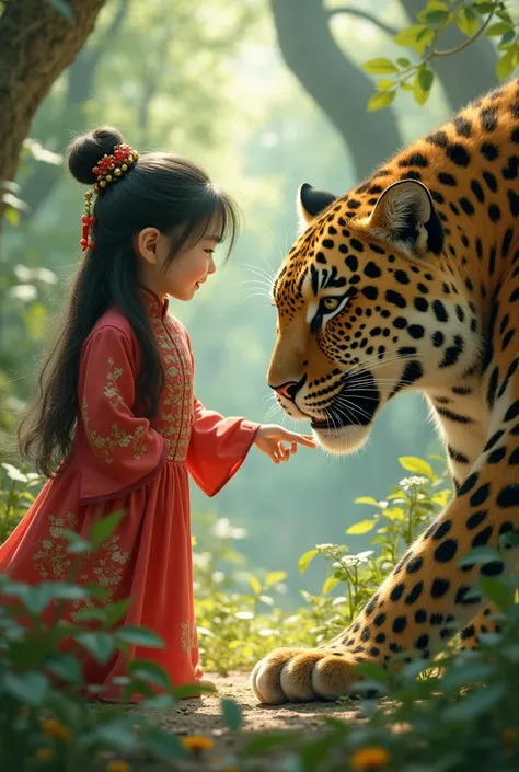
[[[310,422],[325,451],[348,454],[387,403],[418,391],[453,484],[346,630],[257,661],[261,704],[355,694],[360,662],[399,670],[499,630],[480,577],[519,561],[519,79],[343,196],[303,183],[297,209],[272,285],[278,405]],[[487,562],[472,553],[483,546]]]

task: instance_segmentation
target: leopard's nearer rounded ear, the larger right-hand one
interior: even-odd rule
[[[387,187],[366,224],[379,239],[413,255],[443,250],[441,220],[429,189],[417,180],[401,180]]]

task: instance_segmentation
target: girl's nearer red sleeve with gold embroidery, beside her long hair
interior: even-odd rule
[[[80,362],[81,504],[126,495],[165,464],[168,440],[132,412],[136,379],[135,342],[116,326],[95,331]]]

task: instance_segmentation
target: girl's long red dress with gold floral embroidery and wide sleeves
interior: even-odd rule
[[[132,411],[138,345],[126,318],[109,310],[83,346],[71,462],[47,482],[0,546],[0,574],[28,584],[67,578],[73,557],[60,529],[86,535],[100,514],[124,509],[117,530],[83,562],[79,580],[104,587],[105,602],[131,598],[124,624],[152,629],[165,648],[132,646],[130,659],[153,659],[180,687],[201,677],[188,473],[208,496],[217,494],[244,461],[258,425],[204,407],[194,395],[185,327],[166,313],[168,300],[161,303],[148,290],[142,298],[165,376],[157,418],[150,424]],[[44,619],[51,612],[47,609]],[[120,654],[106,666],[84,657],[85,682],[107,687],[107,699],[120,696],[111,681],[125,672]]]

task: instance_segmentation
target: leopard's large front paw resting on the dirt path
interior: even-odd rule
[[[342,648],[276,648],[255,666],[251,688],[267,705],[336,700],[359,680],[356,664]]]

